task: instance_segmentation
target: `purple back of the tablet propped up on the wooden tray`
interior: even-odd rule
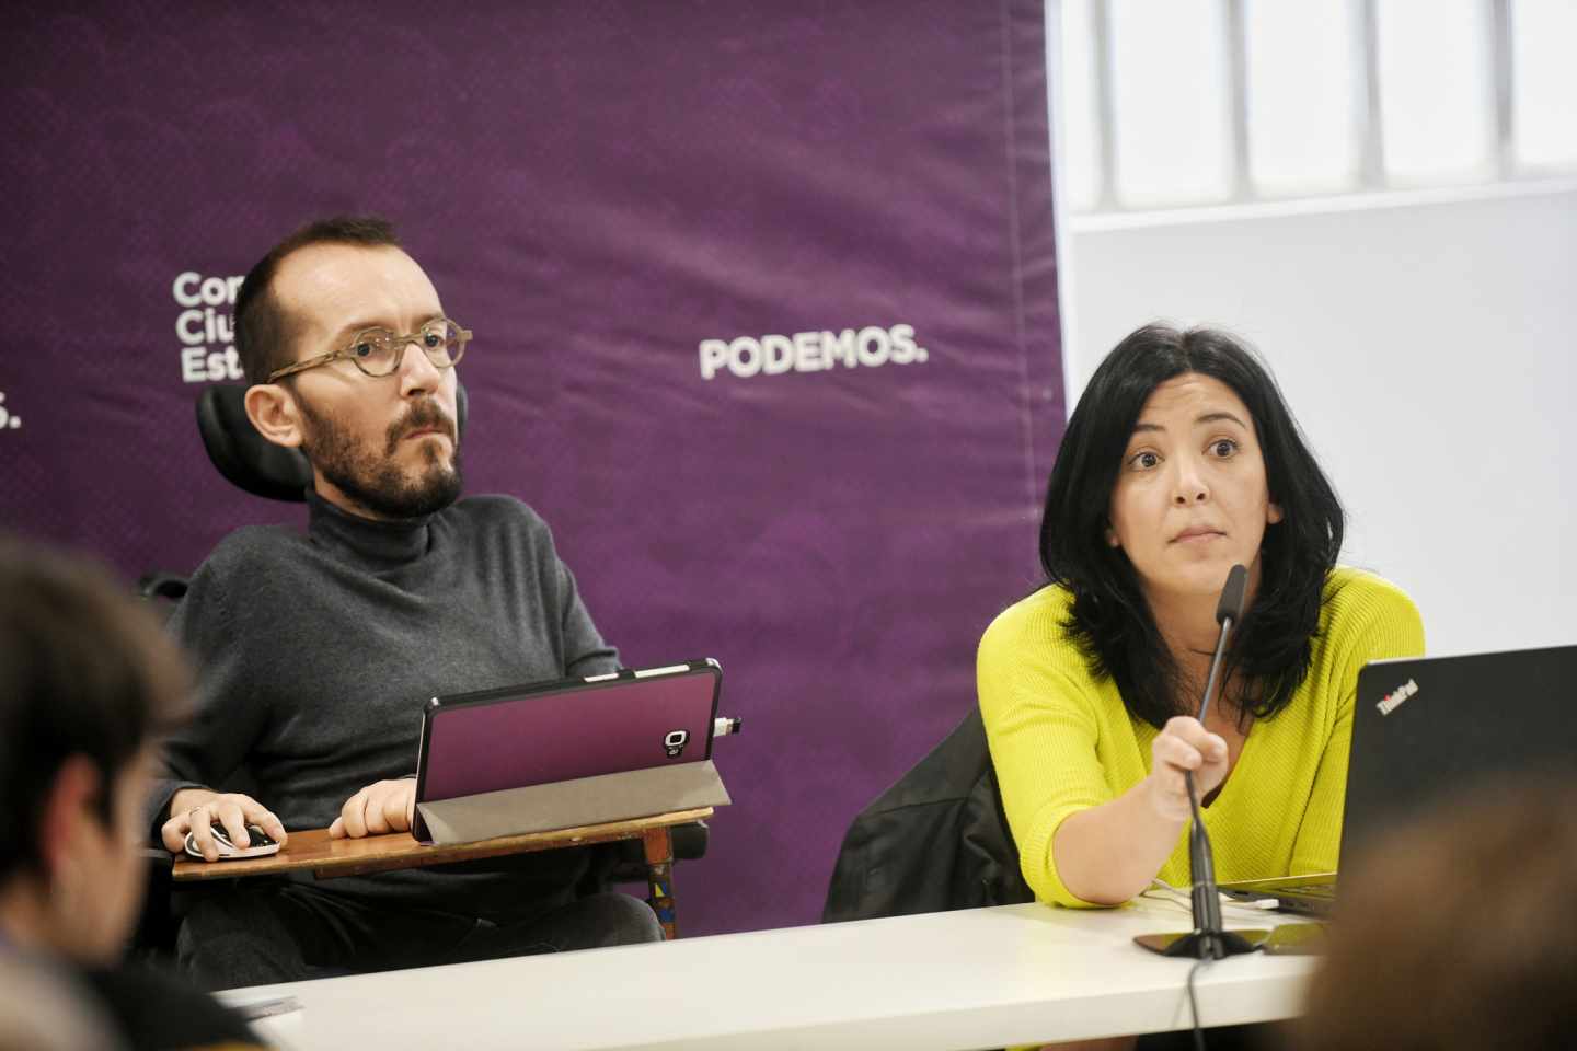
[[[435,696],[421,715],[416,802],[706,763],[721,685],[705,659]],[[416,826],[429,838],[421,807]]]

